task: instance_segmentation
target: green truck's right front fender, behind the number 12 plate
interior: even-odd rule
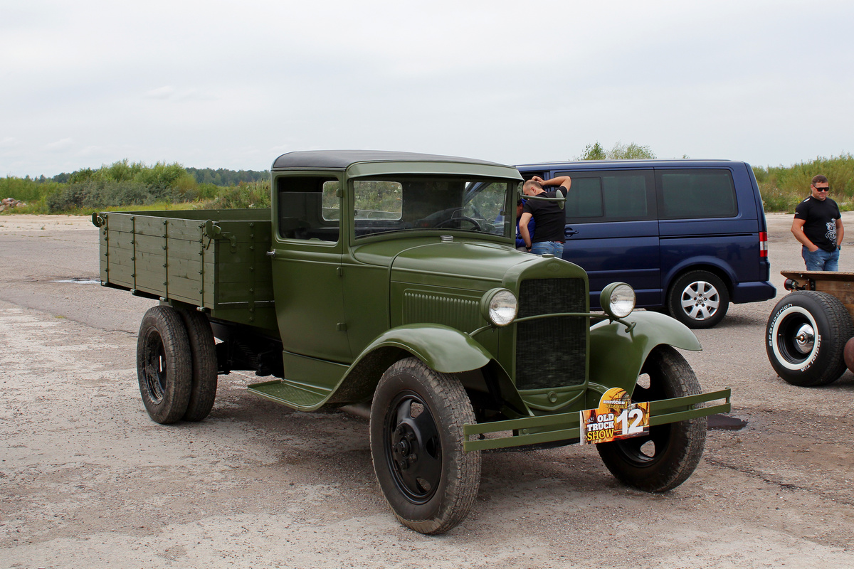
[[[590,381],[588,409],[599,405],[599,397],[610,387],[627,393],[635,390],[640,368],[657,345],[682,350],[702,350],[697,336],[681,322],[658,312],[632,312],[625,319],[635,322],[626,332],[619,322],[600,322],[590,327]]]

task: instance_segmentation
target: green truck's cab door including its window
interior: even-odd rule
[[[340,180],[291,173],[274,180],[272,277],[286,357],[352,360],[344,319]],[[287,359],[286,359],[287,362]],[[285,366],[288,374],[288,366]]]

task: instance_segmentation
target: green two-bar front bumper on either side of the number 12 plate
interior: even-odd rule
[[[681,398],[660,399],[650,402],[650,427],[665,425],[677,421],[687,421],[717,413],[728,413],[731,409],[729,398],[731,390],[729,387],[717,392],[699,393],[699,395],[688,395]],[[723,399],[724,403],[698,407],[699,404],[709,403]],[[510,436],[486,437],[489,434],[512,432]],[[581,425],[579,423],[578,411],[561,413],[559,415],[539,415],[535,417],[524,417],[522,419],[510,419],[508,421],[494,421],[465,425],[464,450],[488,450],[506,449],[513,446],[524,446],[525,444],[551,443],[560,440],[571,440],[581,436]],[[469,440],[478,437],[475,440]]]

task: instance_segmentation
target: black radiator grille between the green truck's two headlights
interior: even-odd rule
[[[583,279],[529,279],[519,287],[519,316],[584,312]],[[584,383],[588,319],[540,318],[516,325],[516,386],[543,389]]]

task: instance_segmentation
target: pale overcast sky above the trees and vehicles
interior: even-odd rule
[[[368,148],[854,152],[854,3],[0,0],[0,176]]]

